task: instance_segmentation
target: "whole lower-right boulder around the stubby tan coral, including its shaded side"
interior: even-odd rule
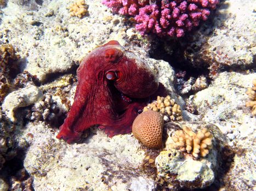
[[[213,148],[206,157],[196,160],[192,154],[173,149],[171,136],[181,127],[190,127],[193,132],[207,128],[213,134]],[[157,176],[160,182],[166,183],[169,189],[196,189],[210,186],[216,177],[222,163],[221,153],[226,144],[224,135],[213,124],[202,122],[166,123],[166,151],[156,158]]]

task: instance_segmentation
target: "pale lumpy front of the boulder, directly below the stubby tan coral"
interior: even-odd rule
[[[170,190],[206,188],[214,179],[214,168],[207,160],[184,158],[178,150],[162,151],[156,158],[160,184]]]

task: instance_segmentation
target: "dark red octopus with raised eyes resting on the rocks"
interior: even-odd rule
[[[73,105],[56,136],[69,144],[95,125],[110,138],[132,132],[135,117],[163,92],[149,65],[115,40],[83,58],[77,80]]]

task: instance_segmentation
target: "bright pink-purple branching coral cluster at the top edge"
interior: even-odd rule
[[[156,33],[158,36],[183,37],[186,31],[207,20],[210,9],[219,0],[103,0],[114,13],[134,16],[136,30],[142,35]]]

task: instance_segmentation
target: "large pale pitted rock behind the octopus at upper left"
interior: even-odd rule
[[[121,45],[128,45],[129,38],[138,39],[127,35],[129,27],[125,24],[126,19],[113,15],[100,0],[86,1],[88,16],[83,19],[70,16],[67,7],[71,3],[61,0],[12,0],[3,9],[5,16],[0,26],[1,40],[17,47],[21,57],[26,57],[23,68],[37,75],[41,82],[48,81],[50,74],[77,68],[89,51],[109,40],[115,39]],[[14,10],[16,14],[13,14]],[[49,14],[49,11],[52,13]],[[146,44],[143,38],[136,41]]]

